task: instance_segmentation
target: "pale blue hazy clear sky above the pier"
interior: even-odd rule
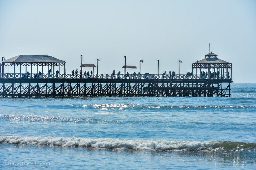
[[[66,73],[98,62],[98,73],[186,74],[209,52],[232,63],[235,83],[256,83],[256,1],[0,0],[0,57],[49,55]],[[84,71],[92,69],[85,68]],[[127,69],[132,73],[132,69]],[[63,71],[61,71],[63,72]],[[96,72],[96,69],[95,69]],[[254,75],[254,77],[252,77]]]

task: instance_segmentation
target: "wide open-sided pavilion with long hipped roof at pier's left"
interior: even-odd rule
[[[65,61],[59,60],[57,58],[54,58],[52,56],[46,56],[46,55],[19,55],[12,57],[10,59],[2,61],[3,67],[2,67],[2,73],[4,73],[4,67],[8,66],[8,74],[7,76],[4,76],[5,78],[50,78],[51,74],[48,74],[49,67],[51,68],[51,71],[53,71],[53,77],[55,77],[55,67],[57,67],[59,73],[60,73],[60,67],[64,67],[64,77],[65,78]],[[13,66],[13,73],[10,73],[10,66]],[[15,72],[15,68],[19,67],[19,72]],[[25,73],[21,73],[21,67],[25,67]],[[30,74],[27,74],[27,67],[30,67]],[[37,73],[34,74],[32,72],[32,67],[36,67]],[[41,67],[42,76],[38,77],[38,67]],[[47,71],[44,74],[44,67],[47,67]],[[52,69],[53,68],[53,69]]]

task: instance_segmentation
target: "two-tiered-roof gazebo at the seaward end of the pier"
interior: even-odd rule
[[[192,71],[193,69],[196,69],[196,75],[198,74],[198,69],[199,69],[199,74],[201,73],[201,70],[205,70],[208,72],[219,71],[220,77],[227,76],[226,79],[232,79],[232,64],[219,59],[218,55],[212,52],[209,54],[206,54],[204,59],[193,63]],[[230,69],[230,74],[227,74],[229,73],[229,69]]]

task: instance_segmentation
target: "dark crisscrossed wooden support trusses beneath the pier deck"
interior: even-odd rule
[[[230,96],[229,79],[2,79],[1,97]]]

